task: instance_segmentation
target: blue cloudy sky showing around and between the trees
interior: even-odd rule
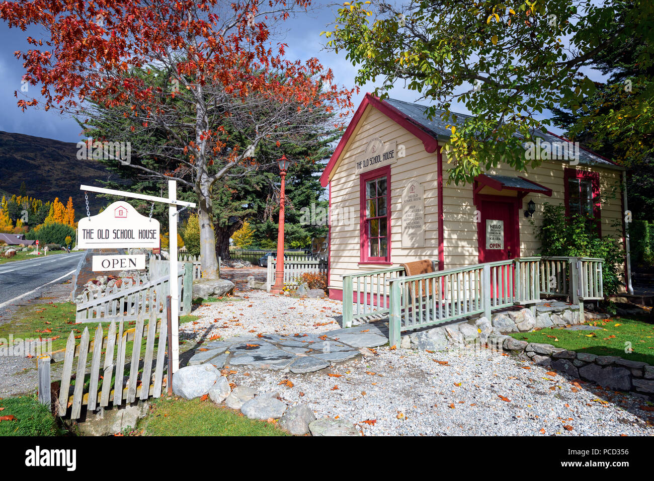
[[[320,37],[320,32],[325,30],[328,24],[334,21],[335,7],[329,7],[328,1],[318,0],[314,2],[314,10],[309,14],[302,14],[297,18],[291,18],[285,22],[284,27],[288,29],[283,41],[288,44],[286,51],[290,59],[307,59],[317,57],[325,67],[331,67],[334,71],[334,81],[347,88],[353,88],[356,67],[345,60],[345,53],[323,50],[326,42]],[[72,118],[63,118],[55,111],[45,112],[33,108],[22,112],[16,107],[14,91],[21,88],[21,78],[24,73],[22,62],[14,57],[14,51],[26,51],[29,45],[25,41],[28,35],[34,38],[41,38],[40,29],[9,29],[3,22],[0,24],[0,130],[5,132],[18,132],[20,134],[35,135],[36,137],[48,137],[60,141],[77,142],[80,140],[80,128]],[[600,80],[596,71],[588,69],[587,74],[593,80]],[[374,90],[373,84],[361,86],[360,94],[354,96],[353,102],[358,106],[366,92]],[[36,90],[36,92],[35,92]],[[29,86],[30,98],[39,98],[37,87]],[[406,90],[404,84],[396,84],[390,92],[392,98],[413,102],[419,98],[417,92]],[[427,103],[421,101],[421,103]],[[453,109],[460,113],[468,113],[463,105],[456,105]],[[553,129],[557,134],[560,131]]]

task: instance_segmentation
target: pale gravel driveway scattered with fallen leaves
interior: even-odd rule
[[[261,291],[203,306],[184,325],[201,340],[251,332],[337,329],[341,303]],[[654,412],[632,395],[566,378],[490,349],[443,353],[379,347],[366,357],[311,374],[238,368],[230,382],[279,391],[317,418],[356,423],[364,435],[654,435]]]

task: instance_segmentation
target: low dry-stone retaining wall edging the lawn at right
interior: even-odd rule
[[[528,343],[504,334],[490,334],[488,345],[530,359],[537,365],[564,372],[572,378],[654,399],[654,366],[640,361],[567,351],[551,344]]]

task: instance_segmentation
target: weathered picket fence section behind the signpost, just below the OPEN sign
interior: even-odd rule
[[[116,283],[107,287],[104,292],[94,295],[85,294],[82,302],[77,304],[75,312],[76,323],[89,323],[95,321],[135,321],[141,313],[158,316],[165,312],[165,298],[170,295],[169,277],[167,269],[154,280],[139,283],[139,281],[122,281],[120,286]],[[180,313],[191,312],[193,293],[192,264],[185,262],[177,277],[177,293],[181,302]]]

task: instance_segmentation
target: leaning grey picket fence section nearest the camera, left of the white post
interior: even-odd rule
[[[154,311],[150,311],[148,318],[145,325],[145,317],[139,316],[133,329],[126,329],[124,322],[118,323],[117,327],[116,322],[112,322],[107,336],[104,336],[102,325],[98,324],[93,340],[88,327],[85,327],[79,344],[76,344],[75,331],[71,332],[66,342],[60,391],[55,403],[58,416],[79,419],[82,406],[86,406],[87,413],[92,413],[107,408],[109,404],[122,406],[162,395],[167,323],[158,322]],[[144,338],[145,353],[142,354]],[[133,341],[130,357],[129,341]],[[39,401],[46,405],[52,402],[50,362],[50,356],[38,359]]]

